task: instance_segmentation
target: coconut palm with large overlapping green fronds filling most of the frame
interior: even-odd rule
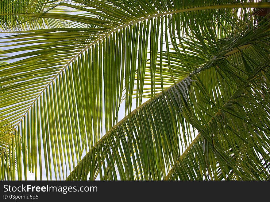
[[[269,180],[269,2],[53,2],[2,38],[2,179]]]

